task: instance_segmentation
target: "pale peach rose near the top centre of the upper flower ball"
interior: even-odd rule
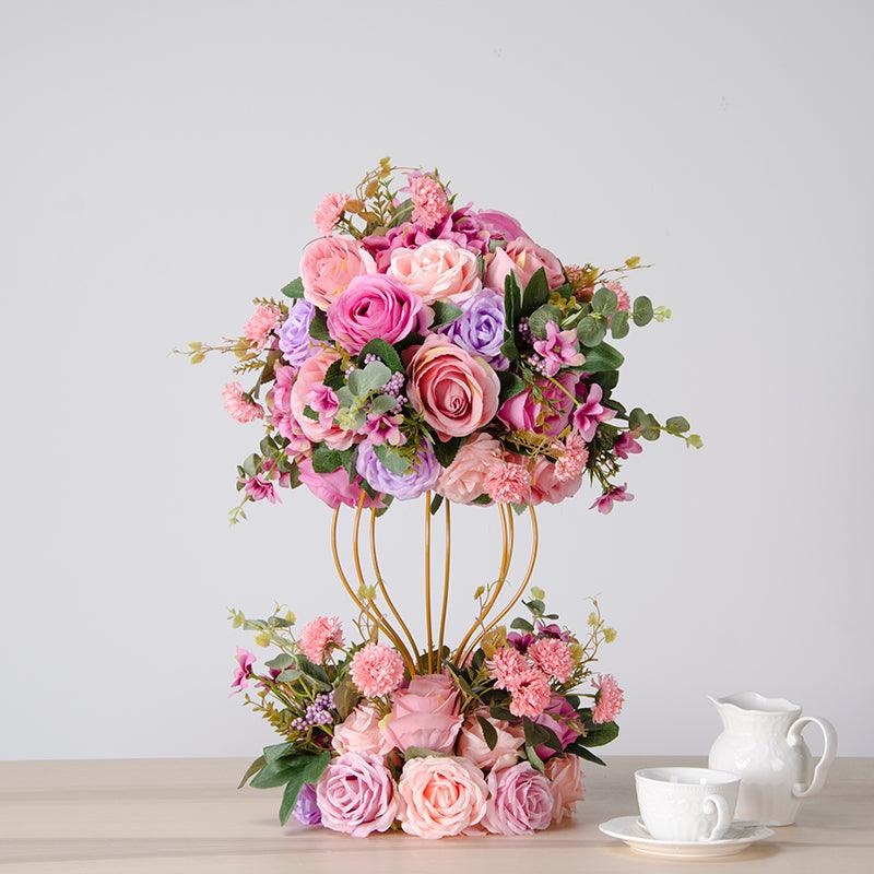
[[[430,240],[417,249],[395,249],[387,272],[426,304],[433,300],[458,304],[483,287],[476,255],[446,239]]]

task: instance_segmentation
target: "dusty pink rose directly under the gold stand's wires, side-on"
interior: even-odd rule
[[[386,736],[402,752],[411,746],[449,753],[463,717],[458,712],[458,688],[445,674],[414,676],[405,689],[391,696]]]

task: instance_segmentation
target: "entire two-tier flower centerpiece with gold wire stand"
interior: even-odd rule
[[[638,258],[612,269],[563,263],[516,218],[460,205],[437,172],[388,158],[353,194],[326,196],[315,218],[321,236],[304,248],[299,276],[279,297],[257,298],[239,336],[185,352],[192,364],[232,354],[239,379],[224,388],[225,409],[263,430],[237,468],[232,523],[304,485],[333,511],[334,568],[356,610],[354,640],[336,617],[297,631],[284,609],[259,619],[231,612],[274,649],[259,664],[238,648],[233,687],[280,735],[241,786],[283,787],[283,824],[294,815],[354,837],[545,829],[582,798],[580,763],[603,764],[592,749],[617,735],[623,690],[594,672],[616,634],[598,602],[578,633],[530,586],[534,508],[588,481],[591,508],[609,513],[634,497],[618,475],[641,441],[669,434],[700,447],[684,417],[661,422],[616,398],[624,356],[607,338],[670,310],[626,291]],[[418,638],[391,599],[376,540],[379,517],[417,498]],[[452,504],[496,512],[500,545],[470,627],[449,641]],[[338,539],[343,508],[354,576]],[[437,513],[441,533],[432,532]],[[531,529],[519,570],[517,517]],[[444,546],[440,591],[433,533]]]

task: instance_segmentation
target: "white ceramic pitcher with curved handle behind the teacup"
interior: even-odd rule
[[[769,826],[795,822],[804,799],[816,794],[838,752],[838,734],[827,719],[802,717],[801,707],[786,698],[742,692],[709,700],[722,718],[722,734],[710,748],[710,767],[741,778],[739,819]],[[825,736],[823,756],[813,757],[801,736],[813,722]]]

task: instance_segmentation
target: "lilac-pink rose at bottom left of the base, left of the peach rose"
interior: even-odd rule
[[[398,815],[391,772],[369,753],[343,753],[333,759],[316,784],[316,803],[326,828],[355,838],[387,831]]]

